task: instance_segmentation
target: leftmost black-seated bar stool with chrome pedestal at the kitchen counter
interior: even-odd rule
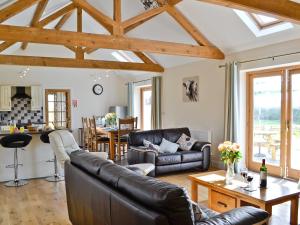
[[[7,166],[7,168],[14,168],[15,172],[15,179],[13,181],[9,181],[5,184],[7,187],[19,187],[23,186],[25,184],[28,184],[28,181],[25,180],[19,180],[18,178],[18,169],[19,166],[23,166],[23,164],[19,164],[18,160],[18,149],[22,149],[26,147],[32,137],[28,134],[10,134],[0,139],[0,144],[4,148],[13,148],[14,151],[14,164]]]

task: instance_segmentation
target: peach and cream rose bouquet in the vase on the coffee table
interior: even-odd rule
[[[221,160],[225,163],[235,163],[242,158],[242,153],[240,151],[240,145],[237,143],[232,143],[231,141],[225,141],[218,147],[221,153]]]

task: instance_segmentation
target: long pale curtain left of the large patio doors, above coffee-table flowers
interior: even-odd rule
[[[237,62],[226,63],[225,78],[225,141],[239,141],[240,80]]]

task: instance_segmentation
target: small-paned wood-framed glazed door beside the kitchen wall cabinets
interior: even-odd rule
[[[46,123],[53,128],[71,128],[70,90],[45,90]]]

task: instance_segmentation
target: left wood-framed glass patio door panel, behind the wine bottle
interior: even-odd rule
[[[259,170],[266,159],[271,174],[283,176],[285,168],[285,76],[283,71],[248,77],[248,166]]]

